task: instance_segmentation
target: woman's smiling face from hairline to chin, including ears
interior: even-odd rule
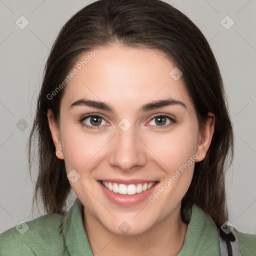
[[[157,50],[120,44],[84,53],[72,72],[59,126],[48,118],[85,216],[116,234],[178,216],[213,133],[199,133],[181,73]]]

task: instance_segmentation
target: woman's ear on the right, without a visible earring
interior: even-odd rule
[[[202,132],[198,136],[197,151],[199,151],[200,154],[196,158],[196,162],[203,160],[207,153],[213,136],[214,125],[215,115],[211,112],[208,112],[208,119],[203,127]]]

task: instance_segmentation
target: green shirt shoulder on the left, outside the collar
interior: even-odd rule
[[[62,215],[48,213],[0,233],[0,255],[63,255]]]

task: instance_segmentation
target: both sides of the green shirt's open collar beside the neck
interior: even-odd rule
[[[63,217],[62,232],[71,256],[91,255],[92,251],[83,226],[83,205],[78,198]],[[212,218],[196,204],[192,204],[191,218],[185,240],[177,256],[201,255],[210,249],[211,255],[219,255],[218,233]]]

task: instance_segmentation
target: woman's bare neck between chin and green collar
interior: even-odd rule
[[[176,209],[147,231],[136,235],[113,234],[84,211],[84,229],[93,255],[176,256],[187,230],[187,224],[181,220],[180,207]]]

